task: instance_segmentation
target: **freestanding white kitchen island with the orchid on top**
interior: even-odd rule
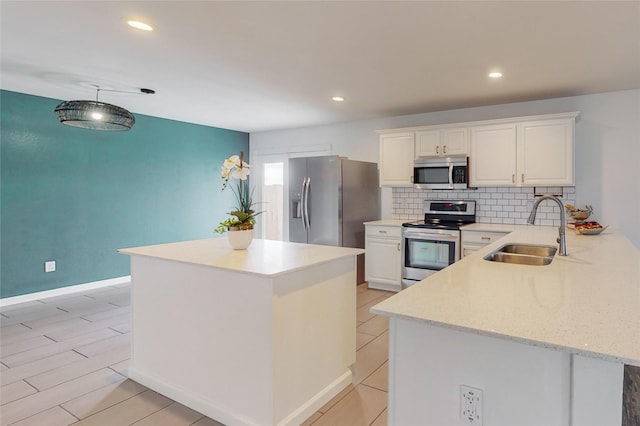
[[[131,256],[129,377],[224,424],[300,424],[351,383],[361,249],[226,238]]]

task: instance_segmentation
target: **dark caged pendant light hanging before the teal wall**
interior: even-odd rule
[[[136,122],[133,114],[119,106],[98,101],[101,90],[106,89],[96,87],[95,101],[64,101],[60,103],[55,109],[60,122],[67,126],[91,130],[121,131],[131,129]],[[118,90],[110,91],[120,92]],[[153,94],[155,91],[140,89],[140,93]]]

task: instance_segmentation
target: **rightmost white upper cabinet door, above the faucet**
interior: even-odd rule
[[[518,183],[574,184],[573,119],[518,124]]]

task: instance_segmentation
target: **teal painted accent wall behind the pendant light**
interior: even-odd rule
[[[60,102],[0,91],[0,297],[129,275],[118,248],[214,237],[234,205],[220,166],[248,158],[247,133],[140,114],[126,132],[78,129]]]

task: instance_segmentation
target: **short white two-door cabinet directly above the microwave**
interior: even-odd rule
[[[446,157],[469,153],[469,129],[447,128],[416,132],[416,157]]]

